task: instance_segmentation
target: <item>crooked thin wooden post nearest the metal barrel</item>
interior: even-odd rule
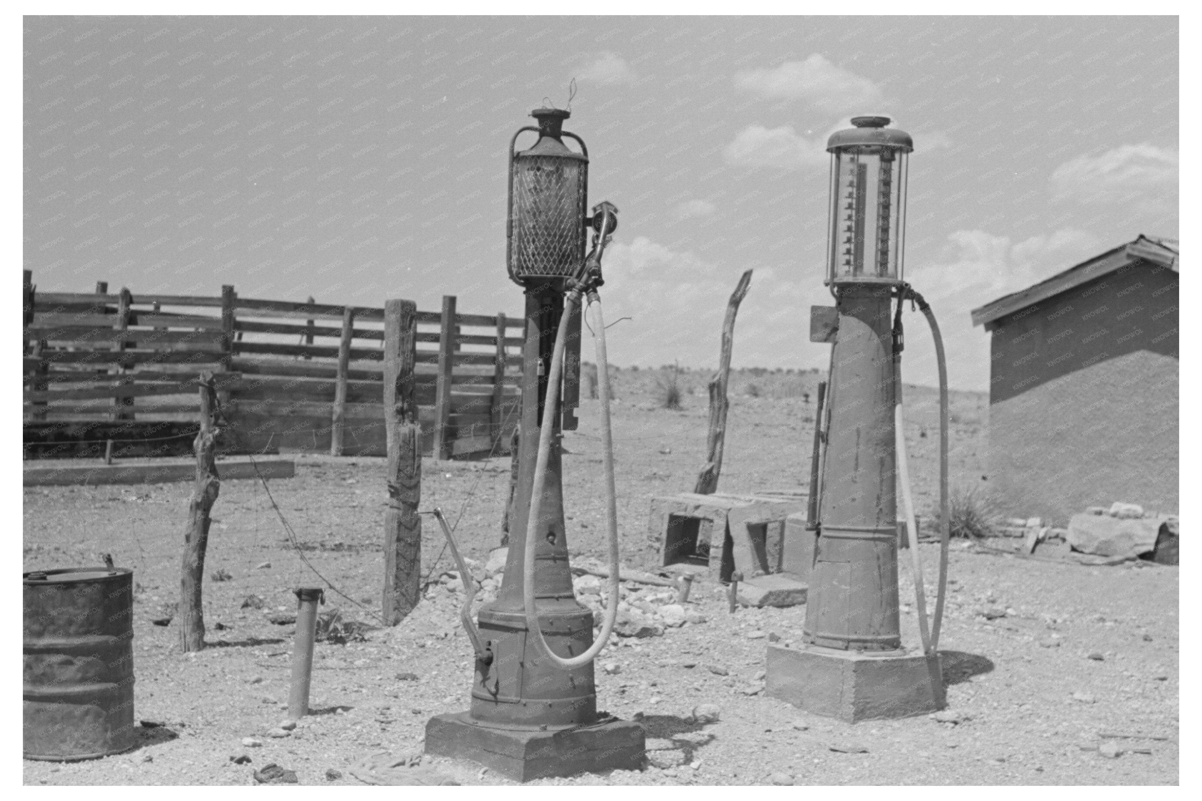
[[[214,444],[216,426],[213,422],[216,393],[213,374],[201,376],[201,429],[196,433],[196,488],[188,504],[188,530],[184,533],[184,559],[179,578],[179,648],[184,653],[204,648],[204,550],[209,544],[209,511],[221,491],[218,477]]]

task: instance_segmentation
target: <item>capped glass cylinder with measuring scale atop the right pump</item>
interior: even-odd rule
[[[888,117],[853,117],[827,142],[831,227],[827,284],[902,280],[910,135]]]

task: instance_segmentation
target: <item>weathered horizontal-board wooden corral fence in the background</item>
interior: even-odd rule
[[[37,292],[24,273],[25,453],[189,452],[200,378],[214,373],[219,451],[385,456],[383,309],[239,297]],[[417,312],[422,450],[507,453],[524,320]],[[516,331],[514,331],[516,330]]]

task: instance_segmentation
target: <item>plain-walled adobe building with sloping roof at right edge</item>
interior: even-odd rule
[[[1178,269],[1177,239],[1141,235],[972,310],[993,333],[989,485],[1005,514],[1177,514]]]

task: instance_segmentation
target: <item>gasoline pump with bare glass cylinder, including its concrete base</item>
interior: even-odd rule
[[[814,314],[832,318],[835,334],[803,645],[768,646],[767,664],[770,695],[849,722],[944,706],[921,572],[916,588],[922,652],[911,654],[902,647],[898,618],[898,473],[909,502],[904,439],[897,426],[904,299],[917,301],[932,324],[940,355],[940,399],[946,398],[934,316],[903,280],[906,161],[912,141],[906,132],[886,127],[887,117],[851,121],[855,127],[837,131],[827,143],[832,156],[825,283],[835,307],[815,307]],[[946,427],[941,434],[946,499]],[[903,450],[895,449],[897,443]],[[906,511],[918,571],[912,509]],[[945,526],[946,520],[945,506]],[[944,575],[941,570],[940,585]],[[936,621],[941,607],[940,603]]]

